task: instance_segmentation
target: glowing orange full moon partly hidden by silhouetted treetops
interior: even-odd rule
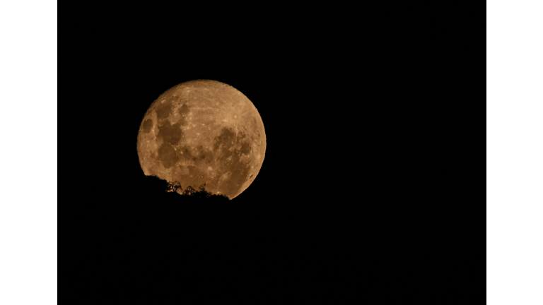
[[[254,104],[216,80],[175,85],[147,109],[138,132],[139,164],[147,176],[206,185],[233,199],[257,177],[266,133]]]

